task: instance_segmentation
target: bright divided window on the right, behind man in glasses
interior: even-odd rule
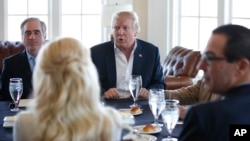
[[[249,0],[173,0],[173,43],[203,51],[213,29],[222,24],[250,28]],[[245,10],[243,10],[245,9]],[[175,41],[175,42],[174,42]],[[171,41],[170,41],[171,42]]]

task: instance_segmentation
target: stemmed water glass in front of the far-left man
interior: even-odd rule
[[[23,82],[22,78],[10,78],[9,92],[12,100],[14,101],[15,108],[11,109],[12,112],[18,112],[19,100],[23,94]]]

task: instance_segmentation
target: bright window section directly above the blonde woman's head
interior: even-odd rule
[[[101,42],[100,23],[100,0],[62,0],[62,36],[78,38],[91,47]]]

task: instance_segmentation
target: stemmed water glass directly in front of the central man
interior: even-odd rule
[[[133,98],[134,103],[130,107],[139,106],[136,101],[140,94],[142,87],[142,78],[140,75],[131,75],[129,77],[129,91]]]

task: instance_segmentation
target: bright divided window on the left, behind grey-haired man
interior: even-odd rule
[[[7,40],[21,40],[20,24],[37,17],[47,25],[47,39],[74,37],[91,47],[101,42],[100,0],[5,0]],[[48,7],[51,7],[49,9]],[[53,9],[54,8],[54,9]]]

